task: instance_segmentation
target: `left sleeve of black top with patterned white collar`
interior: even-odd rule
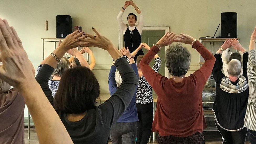
[[[220,85],[221,83],[221,79],[223,77],[225,77],[225,75],[222,73],[221,69],[222,69],[222,59],[221,59],[221,54],[216,53],[214,55],[216,61],[214,63],[214,67],[212,69],[212,75],[214,77],[214,80],[216,82],[217,85]]]

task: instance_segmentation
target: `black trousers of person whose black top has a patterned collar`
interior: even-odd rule
[[[217,122],[215,121],[217,129],[220,131],[220,134],[223,138],[223,144],[244,144],[246,140],[247,128],[244,127],[242,130],[239,131],[227,131],[222,129]]]

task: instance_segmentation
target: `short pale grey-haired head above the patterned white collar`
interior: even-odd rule
[[[241,68],[241,62],[237,59],[232,59],[228,63],[228,74],[233,77],[238,77],[239,74],[241,73]]]

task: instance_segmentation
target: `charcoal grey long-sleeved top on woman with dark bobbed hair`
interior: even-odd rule
[[[116,123],[129,105],[135,93],[138,78],[125,58],[120,58],[114,65],[119,70],[122,84],[106,102],[95,109],[87,110],[84,118],[76,122],[68,121],[65,113],[57,111],[74,143],[108,143],[110,127]],[[53,72],[54,68],[44,64],[36,76],[36,80],[52,104],[53,97],[47,82]]]

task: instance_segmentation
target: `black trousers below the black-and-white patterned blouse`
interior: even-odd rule
[[[138,112],[138,131],[136,144],[145,144],[148,142],[153,122],[153,102],[148,104],[136,103]]]

